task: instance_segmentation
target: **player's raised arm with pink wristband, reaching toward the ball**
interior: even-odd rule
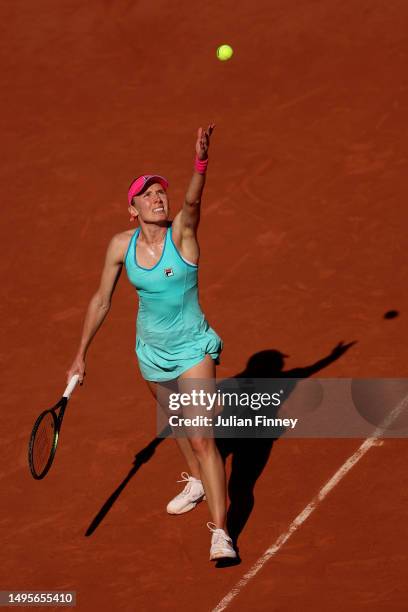
[[[205,185],[208,148],[214,128],[215,125],[211,123],[206,130],[200,127],[197,133],[193,176],[184,198],[183,208],[173,222],[174,229],[180,234],[181,240],[196,236],[200,221],[201,196]]]

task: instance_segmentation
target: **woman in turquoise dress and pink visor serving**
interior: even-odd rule
[[[183,207],[173,221],[169,220],[168,181],[164,177],[146,174],[131,183],[128,211],[138,228],[116,234],[108,246],[100,285],[89,303],[68,379],[79,374],[82,384],[87,350],[109,312],[125,265],[139,295],[136,355],[154,397],[158,398],[158,385],[168,381],[177,381],[180,387],[188,385],[189,380],[196,383],[202,379],[206,391],[212,385],[215,392],[215,367],[222,340],[200,308],[197,284],[197,229],[214,127],[211,124],[206,130],[198,130],[193,176]],[[168,409],[168,405],[163,408]],[[189,471],[182,473],[179,482],[185,482],[185,487],[170,501],[167,512],[188,512],[206,498],[213,520],[207,523],[212,532],[210,560],[235,558],[225,526],[225,468],[214,439],[196,432],[176,440]]]

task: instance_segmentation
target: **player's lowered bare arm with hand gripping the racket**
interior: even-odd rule
[[[85,316],[82,336],[75,359],[67,372],[67,381],[74,374],[79,374],[82,384],[85,376],[85,357],[92,338],[102,325],[109,312],[112,295],[122,271],[123,257],[126,249],[126,237],[114,236],[108,246],[101,281],[96,293],[92,296]]]

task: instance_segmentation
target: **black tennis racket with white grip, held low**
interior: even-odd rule
[[[28,445],[28,463],[36,480],[44,478],[52,465],[65,408],[78,380],[79,376],[75,374],[61,399],[52,408],[44,410],[34,423]]]

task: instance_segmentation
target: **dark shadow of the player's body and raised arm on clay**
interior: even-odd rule
[[[221,382],[222,387],[240,388],[247,390],[248,379],[279,379],[279,386],[285,387],[285,397],[294,390],[297,381],[291,379],[304,379],[320,372],[337,359],[339,359],[355,342],[344,344],[340,342],[326,357],[316,363],[292,370],[285,370],[285,355],[279,350],[269,349],[252,355],[244,371],[236,374],[232,379]],[[283,380],[282,380],[283,379]],[[241,382],[242,381],[242,382]],[[251,412],[247,410],[247,414]],[[224,411],[223,411],[224,414]],[[242,416],[242,415],[241,415]],[[274,416],[272,414],[271,416]],[[242,430],[241,430],[242,431]],[[254,507],[254,487],[262,474],[274,442],[284,433],[284,429],[277,430],[273,437],[226,437],[217,438],[217,446],[221,456],[226,461],[231,456],[231,476],[228,482],[230,506],[227,513],[227,528],[238,551],[238,538],[244,529]],[[243,434],[245,435],[245,434]],[[223,560],[217,567],[236,564],[236,560]]]

